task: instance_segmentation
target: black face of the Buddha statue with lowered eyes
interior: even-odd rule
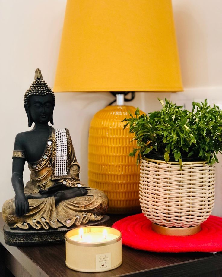
[[[52,96],[32,95],[29,99],[29,114],[35,123],[47,124],[52,119]]]

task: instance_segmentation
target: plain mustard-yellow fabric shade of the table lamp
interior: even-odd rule
[[[67,0],[54,91],[181,91],[170,0]]]

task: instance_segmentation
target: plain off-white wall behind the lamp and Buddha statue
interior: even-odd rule
[[[164,1],[164,0],[162,0]],[[208,98],[222,104],[222,2],[173,0],[184,92],[137,93],[130,104],[145,112],[160,108],[157,97],[171,98],[189,108],[193,100]],[[53,87],[65,0],[0,0],[1,92],[1,194],[3,202],[14,196],[11,164],[14,137],[28,130],[23,96],[34,80],[34,69]],[[87,183],[87,135],[95,112],[113,99],[109,93],[56,93],[55,127],[70,130],[81,180]],[[222,159],[221,159],[222,161]],[[222,216],[221,165],[217,165],[217,194],[213,213]],[[29,179],[25,169],[24,183]]]

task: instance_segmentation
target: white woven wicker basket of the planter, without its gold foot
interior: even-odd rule
[[[206,162],[164,162],[143,158],[140,204],[151,222],[166,227],[200,225],[214,206],[214,165]]]

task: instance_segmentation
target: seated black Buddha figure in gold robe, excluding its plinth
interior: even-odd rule
[[[68,129],[54,129],[55,96],[35,71],[35,81],[24,96],[30,131],[17,134],[12,164],[13,199],[5,201],[2,215],[11,229],[51,229],[100,221],[107,208],[105,193],[91,189],[79,179]],[[24,187],[25,161],[30,181]]]

